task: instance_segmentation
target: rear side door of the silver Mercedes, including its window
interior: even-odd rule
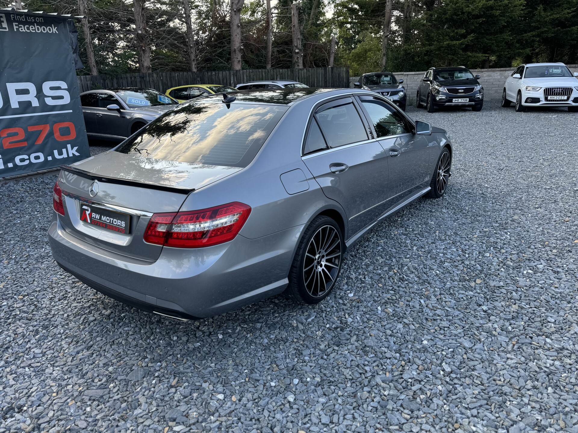
[[[318,107],[306,134],[303,162],[343,207],[349,236],[375,221],[387,200],[388,154],[368,132],[361,107],[348,96]]]

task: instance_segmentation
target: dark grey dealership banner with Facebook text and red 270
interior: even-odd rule
[[[66,20],[0,13],[0,178],[90,156]]]

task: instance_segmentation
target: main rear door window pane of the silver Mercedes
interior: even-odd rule
[[[322,108],[315,116],[329,147],[339,147],[368,139],[365,126],[352,102],[325,110]]]

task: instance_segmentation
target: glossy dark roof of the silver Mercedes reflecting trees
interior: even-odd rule
[[[253,89],[253,90],[238,90],[236,92],[229,92],[227,95],[235,96],[233,104],[260,104],[260,105],[285,105],[291,106],[304,99],[312,96],[334,93],[339,94],[358,93],[357,89],[343,88],[343,89],[329,89],[319,87],[300,87],[300,88],[283,88],[283,89]],[[368,92],[369,93],[369,92]],[[190,99],[185,103],[199,103],[209,102],[217,103],[223,102],[223,94],[214,94],[203,96],[201,98]]]

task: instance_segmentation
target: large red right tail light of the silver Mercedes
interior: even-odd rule
[[[249,206],[235,201],[200,211],[154,214],[144,241],[177,248],[222,244],[237,236],[250,213]]]

